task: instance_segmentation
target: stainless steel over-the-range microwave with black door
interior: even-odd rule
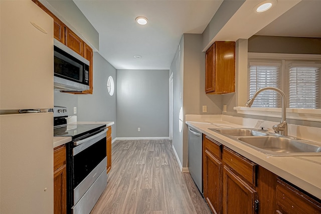
[[[54,89],[80,92],[89,89],[89,61],[54,39]]]

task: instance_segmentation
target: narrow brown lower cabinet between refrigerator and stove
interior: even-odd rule
[[[54,148],[54,214],[67,213],[66,145]]]

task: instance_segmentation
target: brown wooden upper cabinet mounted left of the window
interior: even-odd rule
[[[235,92],[235,42],[216,41],[206,51],[205,92]]]

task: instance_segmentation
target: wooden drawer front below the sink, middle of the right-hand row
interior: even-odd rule
[[[256,185],[256,163],[224,147],[223,162],[230,170],[242,176],[249,184]]]

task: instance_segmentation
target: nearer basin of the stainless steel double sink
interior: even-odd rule
[[[274,156],[321,155],[321,144],[287,137],[239,137],[239,141]]]

